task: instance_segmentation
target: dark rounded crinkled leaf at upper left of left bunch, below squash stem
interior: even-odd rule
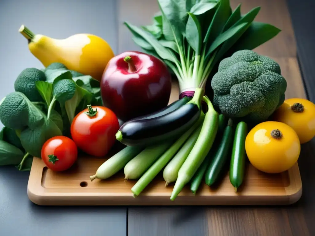
[[[45,81],[46,76],[42,70],[36,68],[24,69],[14,82],[16,92],[24,93],[25,96],[32,102],[42,101],[42,97],[38,93],[35,82]]]

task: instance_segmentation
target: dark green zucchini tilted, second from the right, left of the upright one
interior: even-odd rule
[[[224,129],[221,141],[217,150],[212,158],[210,165],[205,174],[205,182],[207,185],[213,185],[226,163],[230,148],[232,146],[233,141],[233,127],[232,127],[232,120],[229,119],[226,128]]]

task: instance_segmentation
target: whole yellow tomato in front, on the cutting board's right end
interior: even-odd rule
[[[250,163],[266,173],[289,170],[299,158],[301,145],[296,132],[287,124],[266,121],[249,131],[245,150]]]

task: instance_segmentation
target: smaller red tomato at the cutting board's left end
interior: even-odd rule
[[[66,136],[55,136],[44,143],[41,156],[52,171],[65,171],[77,160],[77,146]]]

